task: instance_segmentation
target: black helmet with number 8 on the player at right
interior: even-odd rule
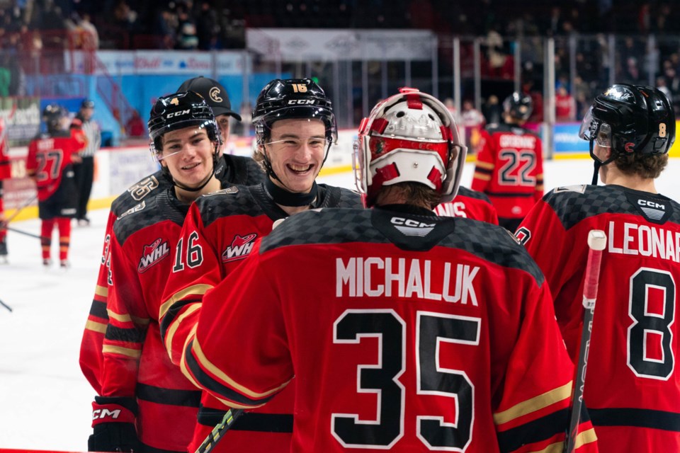
[[[675,113],[662,91],[651,86],[612,85],[596,96],[579,137],[611,147],[608,164],[621,153],[666,154],[675,141]]]

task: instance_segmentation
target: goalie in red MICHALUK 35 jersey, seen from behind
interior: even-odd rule
[[[374,209],[257,243],[205,294],[188,374],[244,408],[295,386],[294,452],[561,451],[574,367],[543,275],[506,230],[432,212],[465,162],[453,117],[402,88],[358,152]],[[596,451],[588,422],[579,440]]]

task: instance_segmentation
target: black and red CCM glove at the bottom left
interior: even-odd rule
[[[92,403],[93,434],[89,452],[140,452],[135,430],[135,398],[95,396]]]

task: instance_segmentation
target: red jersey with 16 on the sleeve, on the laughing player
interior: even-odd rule
[[[317,185],[312,207],[359,207],[350,190]],[[161,334],[172,361],[186,369],[184,348],[193,338],[203,294],[239,268],[256,241],[271,232],[287,214],[276,205],[265,185],[234,186],[199,197],[191,205],[174,254],[161,307]],[[252,325],[256,331],[259,326]],[[234,346],[237,347],[237,346]],[[260,411],[244,415],[217,445],[217,451],[290,452],[293,429],[293,388],[283,391]],[[195,451],[229,408],[203,393],[198,425],[189,451]]]

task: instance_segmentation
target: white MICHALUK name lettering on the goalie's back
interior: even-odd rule
[[[472,282],[479,266],[373,256],[336,258],[335,264],[336,297],[416,297],[477,306]]]

